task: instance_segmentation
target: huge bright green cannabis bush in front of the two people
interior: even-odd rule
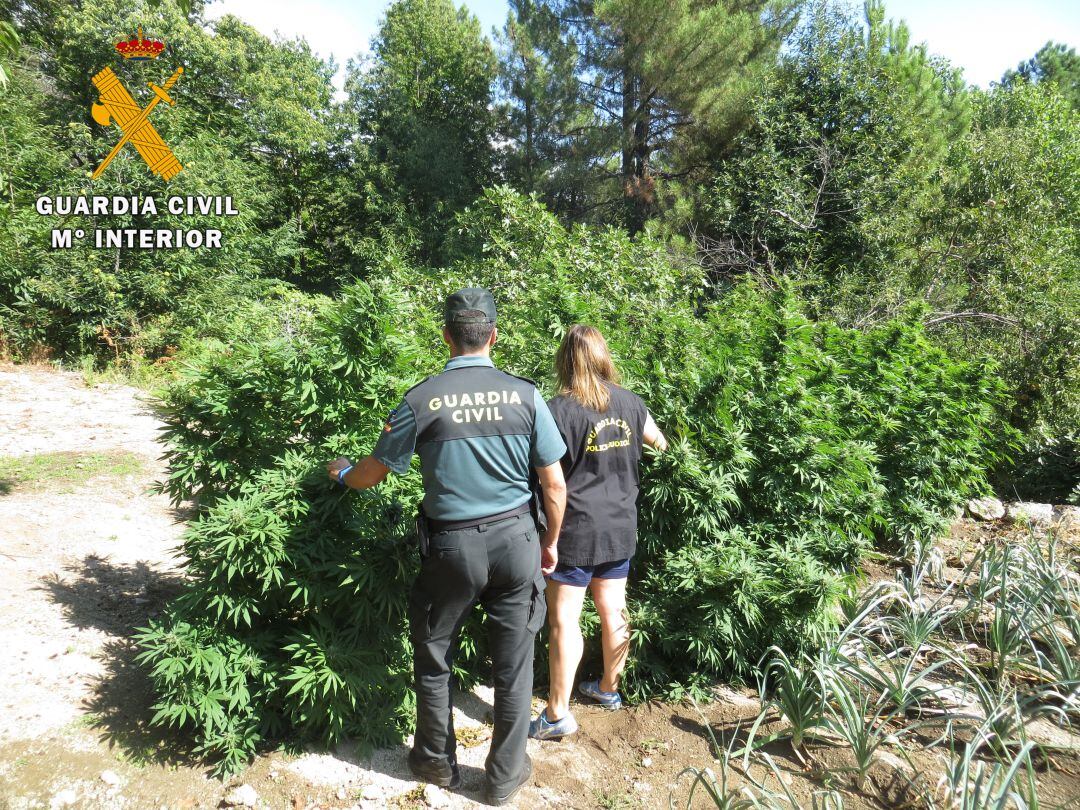
[[[984,486],[1000,384],[930,347],[917,318],[846,332],[750,284],[708,303],[660,243],[568,231],[507,189],[446,249],[437,270],[388,259],[379,281],[204,356],[165,394],[164,487],[200,511],[191,583],[139,643],[158,721],[225,769],[268,735],[370,745],[408,727],[419,476],[347,492],[323,470],[369,450],[404,389],[441,368],[441,302],[459,286],[495,292],[497,363],[549,393],[563,330],[600,327],[674,440],[645,464],[636,698],[700,693],[770,645],[812,646],[864,550],[926,537]],[[478,618],[462,653],[468,681],[483,673]]]

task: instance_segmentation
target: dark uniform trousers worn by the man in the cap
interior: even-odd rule
[[[532,645],[546,609],[543,589],[539,538],[529,514],[432,535],[409,595],[416,759],[457,761],[450,667],[458,631],[478,600],[487,611],[495,675],[487,778],[492,787],[502,788],[521,775],[531,713]]]

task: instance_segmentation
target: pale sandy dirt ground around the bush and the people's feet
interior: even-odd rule
[[[174,549],[187,513],[150,491],[164,468],[158,423],[141,397],[122,386],[86,388],[75,374],[0,366],[0,461],[8,461],[0,470],[10,471],[17,459],[36,471],[30,477],[0,473],[6,648],[0,658],[0,809],[214,808],[241,798],[240,785],[254,791],[256,806],[287,810],[478,807],[490,734],[490,691],[483,688],[456,699],[464,779],[457,793],[424,789],[410,778],[409,741],[366,758],[349,746],[273,752],[222,782],[148,727],[152,694],[133,661],[130,635],[179,588]],[[65,455],[46,459],[54,469],[42,465],[42,454]],[[954,534],[946,556],[962,556],[977,542],[968,523]],[[892,576],[886,568],[878,573]],[[700,712],[661,703],[618,713],[577,706],[579,734],[529,742],[534,777],[515,806],[652,808],[667,807],[672,796],[685,807],[691,777],[683,770],[717,769],[711,737],[723,744],[757,711],[750,690],[718,687],[717,697]],[[822,772],[804,770],[785,744],[773,747],[785,782],[809,807],[824,784]],[[824,751],[819,766],[842,768],[843,756]],[[920,770],[940,772],[936,755],[919,756]],[[875,793],[893,798],[846,792],[845,807],[903,801],[902,791],[889,792],[891,766],[879,770],[872,773]],[[1078,771],[1076,757],[1054,757],[1040,775],[1044,806],[1080,796]],[[702,793],[693,801],[712,806]]]

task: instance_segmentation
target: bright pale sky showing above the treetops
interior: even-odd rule
[[[464,4],[485,31],[505,22],[505,0]],[[333,55],[343,66],[367,50],[387,5],[388,0],[215,0],[207,14],[235,14],[269,36],[302,37],[321,56]],[[981,86],[1047,40],[1080,49],[1078,0],[886,0],[886,13],[907,21],[916,42],[948,57]]]

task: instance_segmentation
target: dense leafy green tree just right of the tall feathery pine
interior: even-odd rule
[[[958,72],[879,2],[863,19],[809,5],[755,99],[753,129],[713,158],[714,180],[696,184],[711,186],[699,202],[708,213],[692,217],[699,238],[732,245],[716,254],[718,274],[800,275],[845,323],[890,311],[935,173],[970,116]],[[880,298],[867,300],[872,291]]]

